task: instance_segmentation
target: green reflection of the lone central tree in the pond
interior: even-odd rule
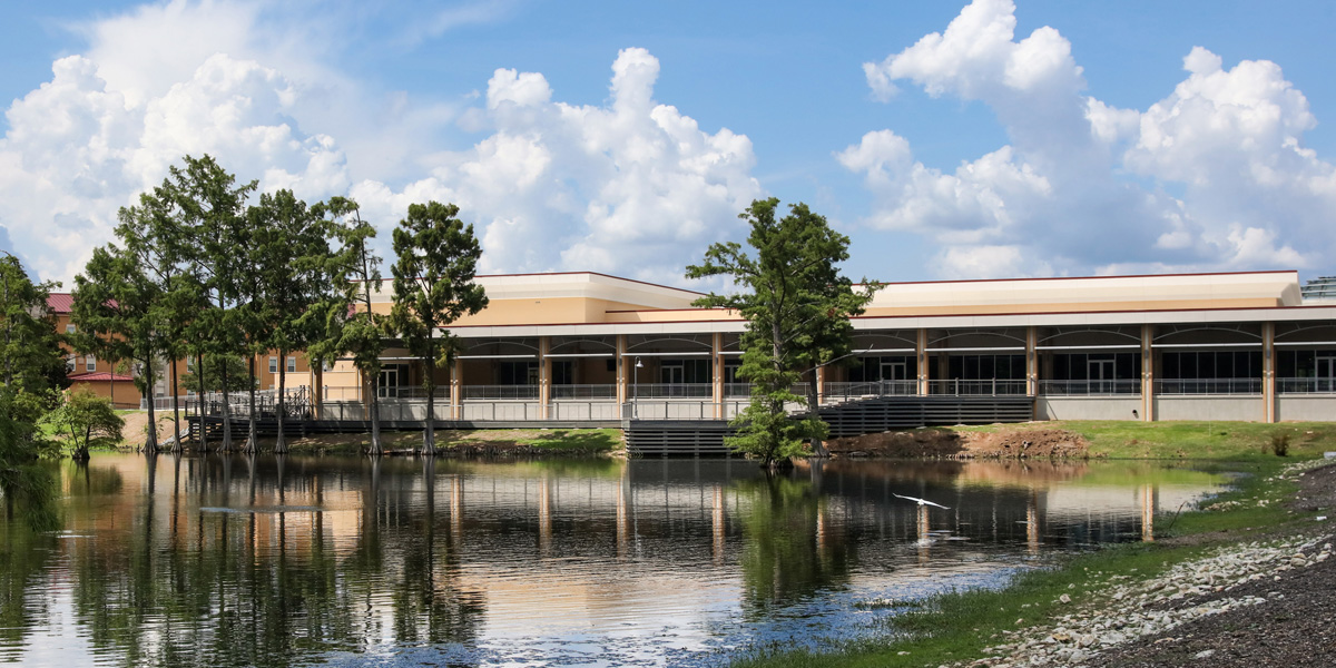
[[[826,520],[808,480],[783,476],[735,484],[741,508],[743,608],[760,617],[848,578],[854,542]]]

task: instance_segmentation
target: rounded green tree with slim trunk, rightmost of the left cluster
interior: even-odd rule
[[[394,230],[390,327],[403,338],[413,355],[422,358],[428,415],[434,407],[432,371],[448,366],[458,346],[457,337],[448,331],[437,335],[437,327],[449,326],[488,305],[482,286],[473,281],[482,248],[473,226],[465,226],[456,218],[458,214],[460,207],[454,204],[410,204],[407,218]],[[429,450],[436,448],[433,422],[428,420],[422,433],[422,445]]]

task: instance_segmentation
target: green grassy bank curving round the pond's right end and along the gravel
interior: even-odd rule
[[[1047,422],[1033,428],[1067,429],[1090,441],[1093,454],[1110,458],[1193,458],[1230,462],[1248,470],[1236,489],[1172,521],[1158,542],[1110,546],[1065,560],[1054,569],[1017,576],[1001,591],[967,591],[907,601],[887,627],[895,635],[851,640],[831,652],[762,651],[735,661],[747,668],[779,667],[937,667],[987,656],[985,648],[1006,643],[1030,624],[1073,612],[1082,600],[1120,578],[1150,578],[1173,564],[1229,542],[1255,540],[1292,522],[1312,522],[1312,513],[1291,513],[1284,501],[1297,489],[1276,474],[1295,461],[1336,450],[1336,425],[1242,422]],[[1025,429],[986,426],[957,429]],[[1271,453],[1272,437],[1289,434],[1289,457]],[[1166,518],[1168,520],[1168,518]],[[1170,525],[1162,521],[1160,526]],[[1067,595],[1070,603],[1062,603]]]

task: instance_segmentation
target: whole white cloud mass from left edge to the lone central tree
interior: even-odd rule
[[[118,208],[183,155],[214,155],[266,191],[349,194],[386,255],[410,203],[457,203],[497,273],[681,282],[762,195],[751,142],[656,102],[645,49],[617,55],[604,104],[554,102],[542,73],[501,68],[450,108],[351,95],[370,87],[323,64],[329,28],[274,12],[176,0],[86,25],[88,51],[5,110],[0,226],[39,275],[68,282],[112,239]]]

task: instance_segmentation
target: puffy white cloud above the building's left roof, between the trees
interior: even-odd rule
[[[657,77],[648,51],[623,49],[608,104],[572,106],[552,102],[541,73],[497,69],[485,110],[468,116],[490,135],[442,154],[430,179],[409,188],[450,184],[461,216],[480,230],[486,271],[589,270],[680,283],[708,243],[740,234],[737,212],[762,188],[751,176],[751,140],[705,132],[655,102]],[[370,183],[354,192],[393,196]]]

